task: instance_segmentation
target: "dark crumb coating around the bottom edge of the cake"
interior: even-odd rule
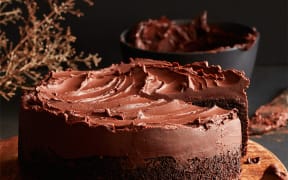
[[[21,162],[21,173],[27,179],[239,179],[241,151],[211,158],[188,159],[181,165],[172,157],[146,159],[142,167],[127,168],[126,158],[94,157],[76,160],[56,158],[44,162],[35,154]]]

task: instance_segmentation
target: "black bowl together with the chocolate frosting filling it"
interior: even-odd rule
[[[235,68],[251,78],[260,33],[255,27],[232,22],[207,22],[207,12],[195,19],[148,19],[120,34],[124,62],[130,57],[189,64],[208,61],[223,69]]]

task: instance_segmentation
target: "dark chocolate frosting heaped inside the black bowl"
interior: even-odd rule
[[[235,31],[219,24],[208,24],[204,12],[189,22],[166,17],[142,21],[129,32],[128,42],[139,49],[157,52],[214,52],[227,48],[248,49],[257,36],[256,29]]]

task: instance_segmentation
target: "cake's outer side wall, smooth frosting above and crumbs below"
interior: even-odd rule
[[[202,113],[202,118],[211,113],[217,115],[199,121],[194,119],[201,117],[196,113],[182,125],[159,122],[160,126],[148,120],[146,125],[135,122],[127,123],[126,128],[122,125],[113,129],[112,121],[109,126],[104,122],[89,126],[85,121],[70,124],[64,114],[24,109],[19,124],[20,162],[24,167],[38,164],[41,171],[44,168],[49,174],[60,171],[65,177],[67,174],[111,179],[238,177],[241,128],[237,111],[213,107]],[[44,170],[42,174],[46,173]]]

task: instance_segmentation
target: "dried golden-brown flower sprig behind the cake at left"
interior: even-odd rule
[[[76,37],[69,27],[61,26],[66,14],[82,16],[76,9],[75,0],[48,0],[50,11],[37,16],[35,0],[19,1],[22,8],[11,8],[12,0],[0,0],[0,25],[19,23],[20,40],[13,45],[5,31],[0,29],[0,96],[9,100],[17,89],[31,89],[47,74],[64,68],[87,68],[98,66],[98,54],[76,53],[72,47]],[[91,0],[83,0],[93,5]],[[24,12],[26,15],[23,15]],[[20,22],[19,22],[20,21]]]

